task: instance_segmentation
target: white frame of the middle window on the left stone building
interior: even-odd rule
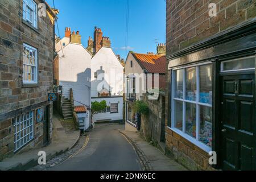
[[[23,60],[23,79],[22,79],[23,84],[38,84],[38,49],[32,46],[29,46],[25,43],[23,43],[23,47],[25,47],[26,49],[30,49],[31,51],[35,51],[35,65],[24,63],[24,60]],[[27,56],[27,55],[23,55],[23,56]],[[35,67],[34,80],[31,80],[31,81],[24,80],[24,65]]]

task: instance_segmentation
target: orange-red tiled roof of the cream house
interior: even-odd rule
[[[138,63],[148,73],[166,73],[166,56],[133,53]]]

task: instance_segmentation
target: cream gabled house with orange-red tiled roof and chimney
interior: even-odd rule
[[[147,92],[154,93],[153,95],[156,96],[150,100],[159,100],[159,90],[166,87],[165,51],[165,44],[159,44],[156,54],[130,51],[127,56],[125,62],[125,130],[127,131],[137,131],[138,119],[140,119],[133,110],[133,102],[143,100],[143,94]],[[157,123],[154,124],[157,125]]]

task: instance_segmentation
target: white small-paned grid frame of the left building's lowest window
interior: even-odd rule
[[[27,115],[29,115],[29,118],[27,117]],[[24,117],[26,117],[26,119],[24,119]],[[30,122],[30,120],[32,119],[32,123]],[[19,120],[19,122],[18,122]],[[24,127],[26,123],[29,123],[29,125],[26,124],[26,127]],[[13,118],[13,128],[14,128],[14,152],[20,150],[21,148],[23,148],[24,146],[26,146],[26,144],[30,143],[31,140],[34,139],[34,111],[28,111],[27,113],[23,113],[18,115],[17,117]],[[23,125],[22,129],[21,129],[21,125]],[[18,127],[19,126],[19,127]],[[19,128],[19,130],[18,130]],[[32,130],[29,133],[26,133],[26,135],[24,136],[24,131],[28,128],[32,128]],[[23,132],[23,137],[20,137],[20,132]],[[19,138],[17,137],[19,135]],[[32,137],[31,137],[32,136]],[[26,137],[29,137],[28,140],[26,140],[26,142],[24,142],[24,139]],[[20,141],[23,140],[23,144],[20,144]],[[19,142],[19,147],[17,147],[17,143]]]

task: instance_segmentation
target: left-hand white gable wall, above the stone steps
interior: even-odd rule
[[[59,84],[63,85],[63,95],[69,98],[69,90],[73,89],[75,105],[90,106],[90,61],[92,56],[81,45],[69,43],[58,52]],[[87,86],[86,86],[87,85]]]

